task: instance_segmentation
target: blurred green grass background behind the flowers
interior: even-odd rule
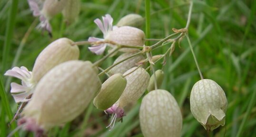
[[[214,130],[211,136],[256,137],[256,0],[193,1],[189,37],[198,63],[204,77],[216,81],[226,92],[228,100],[226,125]],[[12,5],[14,14],[10,15]],[[164,38],[173,33],[171,28],[185,27],[188,8],[187,0],[151,0],[150,37]],[[145,17],[144,0],[82,0],[75,23],[62,29],[60,14],[51,20],[53,37],[35,28],[39,21],[32,17],[27,0],[0,0],[0,89],[1,93],[6,89],[8,99],[7,102],[0,99],[0,137],[6,137],[11,131],[8,124],[11,112],[6,111],[6,105],[10,105],[12,113],[17,110],[9,92],[10,78],[3,73],[13,66],[22,65],[32,70],[40,51],[59,37],[73,41],[87,40],[90,36],[102,37],[93,20],[107,13],[114,18],[114,24],[129,13]],[[8,22],[11,19],[14,21]],[[6,32],[12,29],[13,34],[8,34],[9,45]],[[142,30],[145,31],[145,25]],[[182,137],[206,137],[206,130],[194,119],[189,108],[190,91],[200,77],[186,38],[180,46],[176,46],[174,54],[167,59],[161,88],[172,93],[182,110]],[[167,48],[158,48],[153,55],[163,54]],[[87,46],[80,46],[81,60],[95,62],[100,57],[89,52]],[[111,65],[115,58],[109,58],[102,67]],[[161,64],[156,64],[156,67],[160,69]],[[18,82],[16,79],[11,81]],[[139,128],[139,104],[140,100],[130,105],[123,123],[117,123],[112,131],[105,128],[108,118],[104,112],[90,105],[79,118],[50,130],[49,137],[143,137]],[[20,137],[33,137],[28,132],[19,133]]]

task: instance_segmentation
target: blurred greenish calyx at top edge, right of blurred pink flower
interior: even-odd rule
[[[74,22],[78,17],[80,4],[80,0],[67,0],[65,8],[62,10],[62,14],[68,24]]]

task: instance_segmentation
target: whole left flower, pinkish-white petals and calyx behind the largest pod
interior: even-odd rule
[[[29,101],[29,96],[33,93],[34,87],[50,69],[63,62],[79,58],[79,48],[77,45],[72,45],[73,43],[68,38],[59,38],[40,52],[32,72],[21,66],[20,68],[14,67],[5,73],[6,76],[16,77],[21,80],[21,85],[14,82],[11,83],[10,92],[15,102]]]

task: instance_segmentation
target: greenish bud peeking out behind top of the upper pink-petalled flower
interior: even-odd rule
[[[141,17],[138,14],[128,14],[121,18],[117,26],[122,27],[122,26],[130,26],[130,27],[137,27],[140,28],[144,23],[144,18]]]

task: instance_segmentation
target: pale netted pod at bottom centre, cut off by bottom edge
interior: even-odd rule
[[[182,115],[168,91],[154,90],[142,99],[139,121],[144,137],[181,136]]]

